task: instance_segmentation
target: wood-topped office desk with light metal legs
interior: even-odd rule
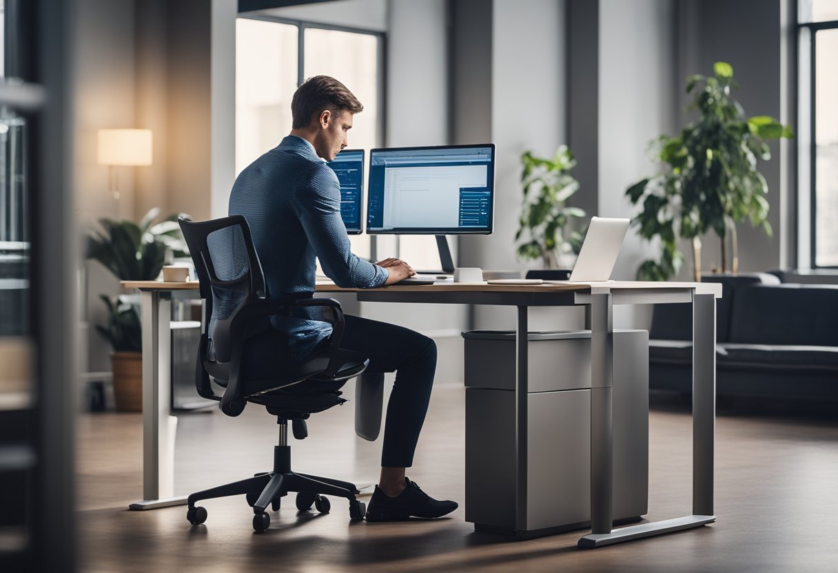
[[[142,292],[143,324],[143,495],[132,508],[164,507],[185,498],[172,494],[174,424],[168,421],[168,320],[171,292],[197,283],[124,281]],[[579,546],[594,548],[630,539],[689,529],[715,521],[713,450],[716,426],[716,298],[722,287],[693,282],[592,282],[587,284],[466,285],[353,289],[318,283],[318,293],[354,292],[361,302],[486,304],[517,308],[515,444],[518,483],[526,483],[527,338],[530,307],[584,306],[591,330],[591,529]],[[612,529],[613,306],[691,302],[693,316],[693,491],[692,514]],[[150,352],[149,352],[150,350]],[[163,411],[166,410],[166,411]],[[516,488],[515,523],[526,524],[526,489]]]

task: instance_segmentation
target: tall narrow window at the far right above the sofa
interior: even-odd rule
[[[838,0],[801,0],[799,54],[800,240],[838,267]]]

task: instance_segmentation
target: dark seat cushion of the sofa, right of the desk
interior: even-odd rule
[[[717,349],[716,366],[720,369],[747,368],[770,372],[838,373],[838,347],[727,343]],[[789,381],[793,383],[794,379]]]

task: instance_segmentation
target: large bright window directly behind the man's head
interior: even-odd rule
[[[279,18],[238,18],[235,29],[235,173],[291,131],[291,99],[313,75],[331,75],[364,105],[349,148],[382,141],[383,34]],[[370,258],[370,236],[350,235],[353,252]]]

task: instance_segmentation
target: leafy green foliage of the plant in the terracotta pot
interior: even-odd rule
[[[120,281],[153,281],[166,259],[166,251],[174,256],[189,256],[184,236],[174,214],[154,225],[160,209],[150,209],[139,225],[128,220],[100,219],[101,230],[91,230],[87,241],[87,258],[99,261]],[[188,215],[183,215],[188,217]],[[141,348],[140,318],[137,307],[126,297],[111,299],[101,295],[108,310],[106,327],[96,329],[108,339],[116,351],[139,352]]]

